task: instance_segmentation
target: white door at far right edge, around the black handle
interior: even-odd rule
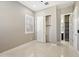
[[[79,30],[79,2],[77,1],[75,3],[74,8],[74,47],[79,50],[79,33],[77,33],[77,30]]]

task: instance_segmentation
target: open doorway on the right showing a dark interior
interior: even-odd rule
[[[69,17],[70,14],[61,17],[61,41],[69,42]]]

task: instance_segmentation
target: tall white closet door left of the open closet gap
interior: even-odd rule
[[[37,17],[37,41],[46,42],[45,40],[45,18],[43,16]]]

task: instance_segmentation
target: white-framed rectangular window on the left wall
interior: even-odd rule
[[[25,33],[34,32],[34,17],[30,15],[25,15]]]

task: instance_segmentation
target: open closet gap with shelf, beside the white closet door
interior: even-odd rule
[[[46,42],[50,42],[51,15],[46,16]]]

